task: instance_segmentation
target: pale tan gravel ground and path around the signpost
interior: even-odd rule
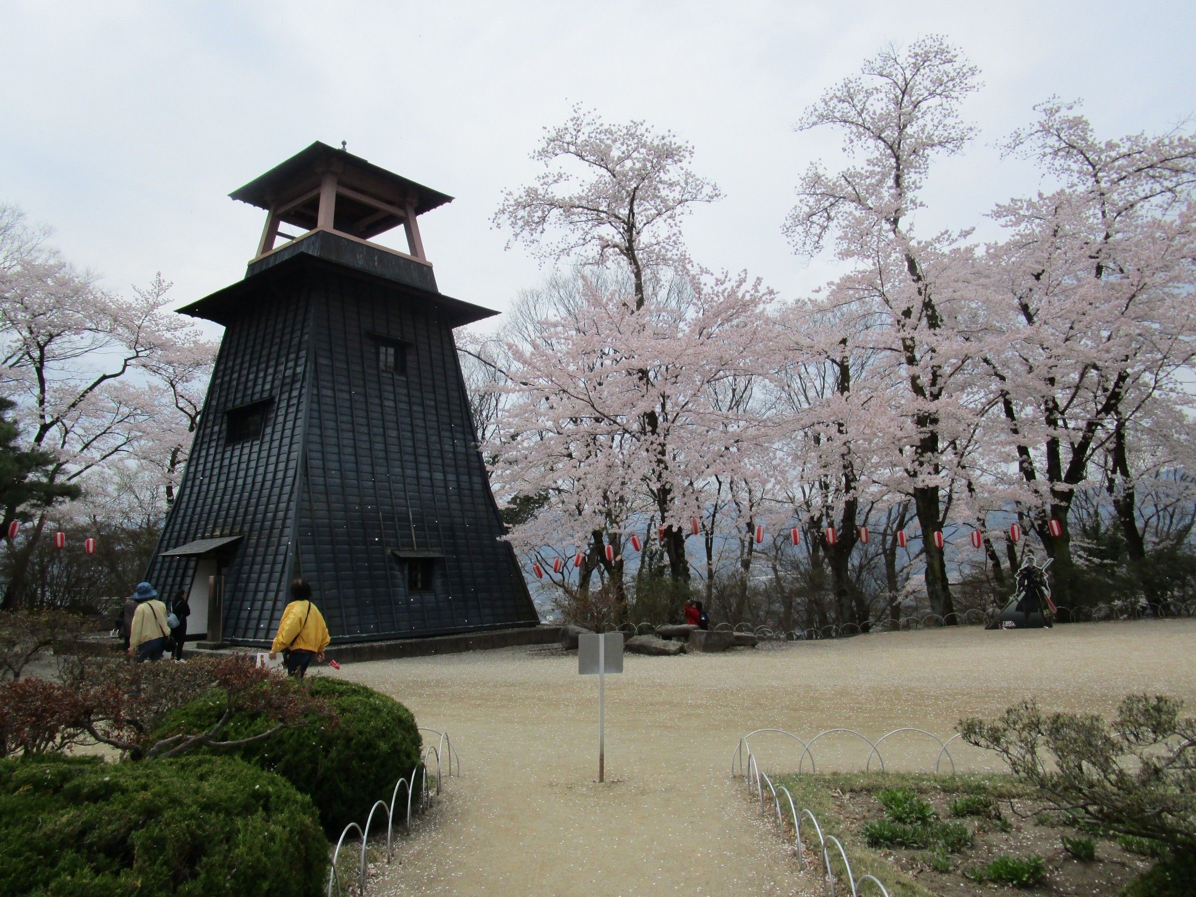
[[[1131,691],[1196,704],[1196,621],[978,628],[769,643],[726,654],[627,655],[606,678],[606,783],[597,779],[598,683],[576,655],[508,648],[347,665],[338,675],[447,730],[460,779],[399,843],[374,893],[810,893],[788,852],[750,811],[730,758],[761,727],[803,738],[899,726],[944,738],[963,715],[1035,695],[1044,707],[1112,712]],[[765,770],[800,749],[757,736]],[[933,769],[938,745],[885,742],[890,768]],[[990,759],[959,742],[960,769]],[[868,746],[819,739],[819,769],[862,768]],[[808,767],[807,767],[808,768]]]

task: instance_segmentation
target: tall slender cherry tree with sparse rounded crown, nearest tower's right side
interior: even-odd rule
[[[547,129],[544,140],[532,154],[544,164],[544,173],[535,184],[507,193],[495,214],[498,226],[509,228],[513,240],[524,242],[543,258],[570,258],[597,267],[617,261],[621,270],[629,275],[629,294],[620,295],[617,303],[628,306],[630,315],[643,311],[642,321],[633,321],[611,307],[610,292],[587,289],[585,304],[592,299],[593,307],[579,310],[584,330],[570,335],[569,349],[576,353],[578,367],[596,376],[598,384],[631,389],[623,383],[629,356],[615,356],[604,346],[608,328],[622,327],[628,336],[659,336],[658,328],[679,325],[685,317],[669,299],[671,285],[696,282],[685,274],[681,219],[694,203],[719,197],[716,187],[688,167],[691,157],[689,145],[670,133],[655,133],[643,122],[608,124],[578,106],[565,124]],[[718,292],[720,287],[712,286],[712,289]],[[596,329],[599,327],[600,330]],[[549,330],[555,340],[561,338],[559,328]],[[646,347],[626,348],[639,352]],[[628,392],[624,398],[634,401],[633,407],[641,415],[634,427],[622,422],[626,409],[608,404],[602,413],[610,421],[621,421],[620,427],[626,433],[635,432],[637,445],[652,446],[653,454],[637,476],[646,476],[651,483],[648,490],[658,508],[658,519],[665,526],[671,575],[688,579],[684,529],[677,523],[676,513],[678,504],[687,504],[683,493],[678,492],[687,486],[671,466],[677,463],[673,457],[677,450],[670,443],[672,410],[667,402],[671,396],[667,391],[660,393],[659,383],[654,383],[660,371],[649,366],[659,360],[658,352],[648,352],[645,365],[633,368],[639,386],[634,388],[636,395]],[[537,365],[532,356],[519,359],[519,364]],[[606,374],[608,366],[615,366],[615,377]],[[669,370],[667,364],[665,370]],[[535,376],[518,382],[533,380]],[[551,383],[551,378],[548,382]],[[591,463],[591,469],[596,466]],[[608,471],[608,487],[621,480],[612,470]]]

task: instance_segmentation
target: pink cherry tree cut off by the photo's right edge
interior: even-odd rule
[[[988,315],[1003,344],[990,341],[984,362],[1057,600],[1070,604],[1068,514],[1076,489],[1099,478],[1093,460],[1109,451],[1124,483],[1131,444],[1163,435],[1147,431],[1165,422],[1174,440],[1191,434],[1196,139],[1102,141],[1075,104],[1039,111],[1008,150],[1058,187],[996,209],[1009,236],[989,252],[997,288]],[[1140,565],[1133,500],[1115,508]]]

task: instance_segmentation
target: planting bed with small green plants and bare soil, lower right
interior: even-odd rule
[[[1194,880],[1185,875],[1196,872],[1164,859],[1151,873],[1157,842],[1081,831],[1057,813],[1035,816],[1035,793],[1012,776],[819,774],[774,783],[843,841],[856,877],[875,875],[895,897],[964,897],[1000,887],[1119,895],[1131,884],[1127,895],[1152,897],[1172,893],[1168,883]],[[806,864],[817,874],[822,858],[810,849],[816,838],[812,826],[803,829]]]

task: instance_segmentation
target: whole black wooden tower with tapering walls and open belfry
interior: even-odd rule
[[[225,335],[147,574],[189,637],[267,642],[295,575],[334,643],[538,623],[452,336],[495,312],[437,289],[416,224],[452,197],[319,142],[232,197],[266,230],[182,309]],[[407,252],[371,242],[398,225]]]

